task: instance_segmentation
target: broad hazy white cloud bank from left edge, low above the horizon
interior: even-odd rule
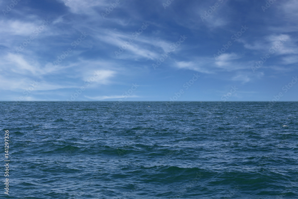
[[[84,65],[85,67],[81,67]],[[37,58],[32,56],[30,59],[23,55],[8,53],[2,57],[0,64],[0,90],[20,91],[28,89],[32,81],[41,81],[34,90],[58,90],[64,88],[77,88],[80,83],[74,81],[89,81],[91,87],[99,84],[109,84],[110,78],[117,73],[112,68],[113,63],[103,61],[79,60],[70,65],[59,65],[54,67],[52,63],[40,64]],[[72,68],[70,70],[70,68]],[[54,75],[63,75],[59,83],[52,83]]]

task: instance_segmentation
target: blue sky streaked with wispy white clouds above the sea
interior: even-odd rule
[[[297,0],[0,8],[1,101],[297,101]]]

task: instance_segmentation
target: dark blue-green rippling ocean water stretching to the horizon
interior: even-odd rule
[[[298,198],[297,102],[0,102],[0,198]]]

